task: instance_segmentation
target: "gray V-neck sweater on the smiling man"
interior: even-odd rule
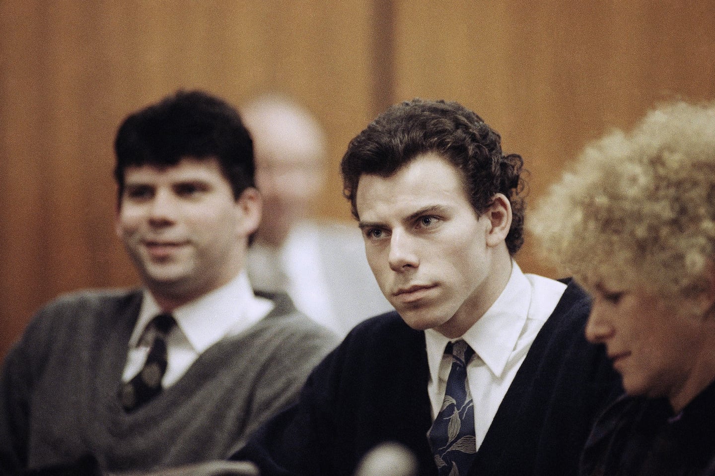
[[[285,294],[242,334],[199,356],[138,410],[119,404],[127,342],[142,293],[81,292],[42,309],[9,352],[0,380],[0,474],[91,453],[105,470],[225,458],[292,402],[337,343]]]

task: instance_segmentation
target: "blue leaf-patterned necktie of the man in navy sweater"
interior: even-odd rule
[[[474,351],[460,339],[447,344],[445,354],[452,354],[452,369],[445,400],[427,438],[440,476],[465,476],[477,452],[474,405],[467,383],[467,364]]]

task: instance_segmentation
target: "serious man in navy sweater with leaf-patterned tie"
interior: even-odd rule
[[[397,312],[358,324],[300,400],[232,458],[263,476],[352,475],[382,442],[420,475],[572,475],[619,392],[590,301],[524,274],[522,159],[460,104],[380,114],[342,159],[365,252]]]

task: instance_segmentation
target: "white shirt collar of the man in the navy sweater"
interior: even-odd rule
[[[500,377],[516,347],[526,324],[531,303],[531,284],[516,262],[512,261],[511,276],[494,304],[464,333],[464,339],[489,367]],[[548,317],[548,316],[547,316]],[[435,329],[425,331],[430,375],[438,379],[440,362],[450,340]]]

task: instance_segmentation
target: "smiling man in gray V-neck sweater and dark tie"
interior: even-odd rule
[[[0,474],[225,458],[335,345],[246,276],[261,198],[232,106],[179,91],[127,117],[115,150],[117,235],[143,287],[69,294],[34,317],[2,370]]]

